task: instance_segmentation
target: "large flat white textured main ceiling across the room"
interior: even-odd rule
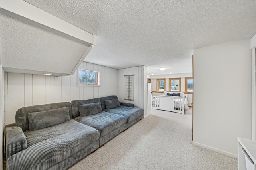
[[[25,1],[96,34],[85,61],[145,65],[148,74],[192,72],[193,49],[256,34],[255,0]],[[160,72],[161,66],[168,68]]]

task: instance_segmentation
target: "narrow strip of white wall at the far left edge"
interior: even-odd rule
[[[0,65],[0,170],[3,169],[3,150],[4,150],[4,70]]]

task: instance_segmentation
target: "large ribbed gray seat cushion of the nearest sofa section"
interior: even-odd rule
[[[7,169],[48,169],[67,158],[76,159],[78,150],[97,142],[100,137],[97,130],[73,119],[24,133],[30,146],[10,156]]]

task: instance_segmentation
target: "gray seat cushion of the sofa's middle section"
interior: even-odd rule
[[[126,117],[104,111],[95,115],[78,116],[74,119],[98,130],[100,137],[126,124]]]

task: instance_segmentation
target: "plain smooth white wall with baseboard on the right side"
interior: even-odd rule
[[[193,144],[237,157],[252,138],[251,62],[250,39],[194,50]]]

